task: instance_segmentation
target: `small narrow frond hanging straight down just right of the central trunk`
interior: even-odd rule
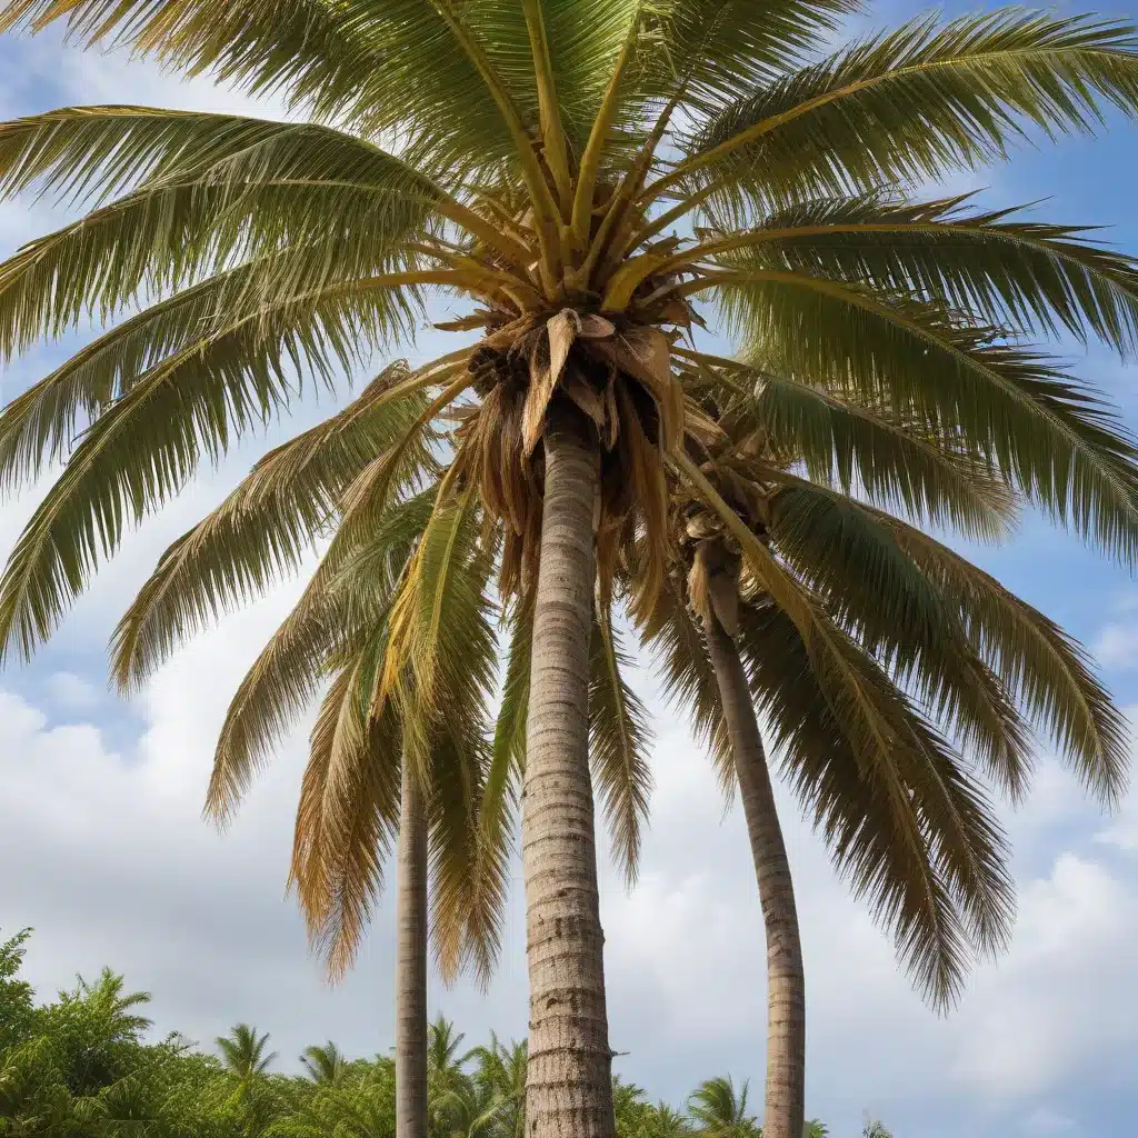
[[[593,613],[588,731],[593,780],[609,824],[612,855],[630,889],[636,882],[652,774],[648,711],[625,679],[630,663],[609,611]]]

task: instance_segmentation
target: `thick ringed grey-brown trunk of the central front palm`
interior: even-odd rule
[[[584,417],[575,407],[551,407],[521,832],[529,1138],[612,1138],[616,1129],[588,770],[599,477]]]

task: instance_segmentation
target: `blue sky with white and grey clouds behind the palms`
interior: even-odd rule
[[[1066,6],[1062,6],[1066,10]],[[872,5],[881,26],[914,7]],[[953,9],[954,11],[957,9]],[[1104,15],[1138,18],[1115,6]],[[240,92],[160,74],[116,55],[83,53],[48,33],[0,35],[0,119],[84,102],[138,102],[279,116]],[[986,171],[993,205],[1040,203],[1033,216],[1111,226],[1138,249],[1138,124],[1112,117],[1096,139],[1017,152]],[[954,188],[958,188],[955,187]],[[1042,200],[1046,199],[1046,200]],[[59,211],[0,201],[0,257],[59,224]],[[7,402],[68,348],[38,348],[0,370]],[[419,351],[430,354],[424,336]],[[1063,345],[1078,372],[1138,426],[1138,370]],[[0,929],[32,925],[26,974],[50,998],[110,965],[152,993],[157,1034],[211,1046],[238,1021],[272,1036],[282,1069],[312,1042],[347,1054],[393,1037],[393,906],[385,898],[356,970],[337,988],[310,956],[284,896],[306,729],[282,748],[236,824],[200,817],[213,744],[230,695],[288,611],[300,583],[228,617],[180,651],[137,699],[106,682],[106,643],[162,551],[216,503],[273,442],[328,412],[306,405],[208,471],[132,534],[55,641],[0,673]],[[0,503],[0,553],[35,504]],[[1138,721],[1138,587],[1041,519],[1000,550],[972,551],[1008,587],[1092,648]],[[710,765],[648,669],[636,676],[655,727],[652,830],[640,882],[626,892],[602,864],[602,920],[617,1070],[679,1104],[712,1074],[752,1080],[761,1102],[766,991],[762,927],[737,809],[725,811]],[[306,727],[307,725],[304,725]],[[835,879],[825,850],[780,790],[808,981],[808,1111],[835,1136],[864,1112],[898,1138],[1015,1138],[1128,1132],[1138,1115],[1138,793],[1100,815],[1046,752],[1017,811],[1001,809],[1014,848],[1019,912],[1009,950],[974,970],[941,1017],[896,966],[889,939]],[[526,979],[516,876],[502,967],[487,992],[432,984],[431,1009],[472,1041],[490,1028],[521,1038]]]

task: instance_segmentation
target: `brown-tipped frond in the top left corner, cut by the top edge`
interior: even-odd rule
[[[0,28],[64,17],[83,39],[131,43],[180,68],[311,107],[319,118],[346,118],[372,134],[403,124],[417,133],[434,127],[442,167],[456,151],[501,160],[511,149],[485,79],[455,35],[460,10],[415,0],[382,7],[297,0],[287,11],[256,0],[240,13],[209,0],[148,2],[141,10],[117,0],[16,0],[0,16]],[[498,17],[508,34],[518,18],[512,11]]]

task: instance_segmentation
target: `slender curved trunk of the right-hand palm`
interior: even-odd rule
[[[714,615],[708,653],[735,753],[767,934],[767,1086],[762,1138],[802,1138],[806,1124],[806,975],[794,885],[754,706],[734,641]]]

